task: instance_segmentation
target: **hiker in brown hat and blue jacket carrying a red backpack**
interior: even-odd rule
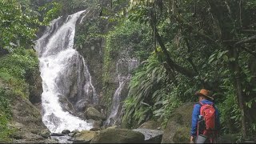
[[[216,143],[220,128],[218,109],[210,91],[202,89],[195,93],[198,102],[194,105],[190,131],[190,143]]]

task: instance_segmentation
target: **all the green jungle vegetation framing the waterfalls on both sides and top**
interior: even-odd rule
[[[103,79],[121,48],[128,46],[141,61],[122,126],[154,119],[164,127],[174,108],[196,102],[194,93],[206,88],[221,112],[223,134],[256,134],[256,1],[0,0],[0,139],[12,131],[6,126],[12,95],[29,98],[28,78],[38,72],[33,42],[39,27],[87,7],[98,17],[76,45],[105,42]],[[102,31],[106,22],[110,30]]]

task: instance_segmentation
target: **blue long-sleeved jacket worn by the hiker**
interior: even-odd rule
[[[205,103],[205,104],[212,104],[213,102],[210,102],[208,100],[202,100],[201,101],[202,103]],[[191,136],[196,136],[197,135],[197,129],[198,129],[198,115],[200,115],[200,104],[195,104],[194,105],[194,110],[193,110],[193,113],[192,113],[192,124],[191,124],[191,131],[190,131],[190,135]],[[218,109],[214,106],[214,109],[216,111],[216,119],[215,119],[215,122],[216,122],[216,126],[217,126],[217,129],[220,128],[220,121],[219,121],[219,116],[220,114],[218,113]]]

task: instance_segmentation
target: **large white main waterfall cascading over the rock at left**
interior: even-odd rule
[[[73,49],[75,25],[82,13],[58,18],[50,23],[36,42],[42,77],[42,121],[51,132],[89,130],[92,124],[62,109],[59,98],[76,105],[81,100],[98,103],[86,61]]]

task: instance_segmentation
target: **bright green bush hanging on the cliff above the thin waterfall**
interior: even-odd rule
[[[106,35],[103,81],[107,81],[110,78],[111,70],[115,70],[112,63],[121,55],[122,58],[129,56],[143,61],[149,56],[151,50],[152,43],[147,26],[128,20],[114,27],[114,30]],[[122,51],[127,53],[120,54]]]

